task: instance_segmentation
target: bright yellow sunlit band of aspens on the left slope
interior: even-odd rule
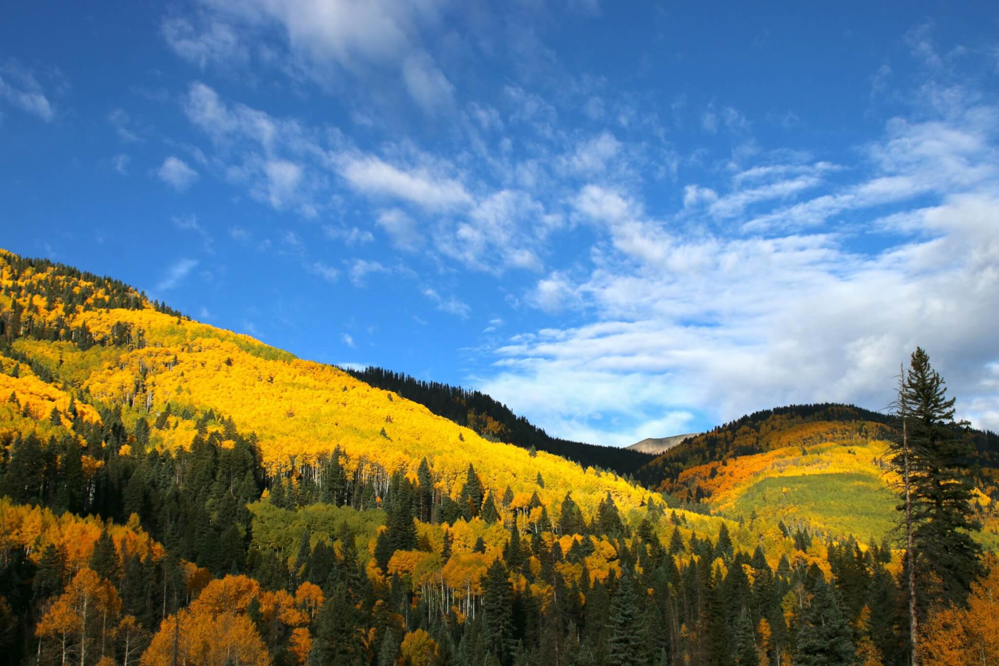
[[[2,285],[12,287],[14,277],[3,265]],[[536,489],[544,503],[555,505],[571,490],[587,514],[607,491],[625,510],[648,496],[612,474],[487,441],[336,367],[297,359],[247,335],[158,312],[138,295],[118,298],[118,303],[132,296],[139,299],[132,309],[66,309],[59,299],[24,294],[33,282],[51,284],[63,280],[59,276],[28,270],[16,279],[22,288],[17,297],[25,309],[22,317],[30,315],[33,326],[47,322],[63,333],[54,334],[57,339],[52,340],[22,336],[14,348],[44,363],[57,381],[83,389],[95,401],[122,405],[135,418],[141,415],[152,421],[168,405],[174,414],[187,407],[232,417],[241,430],[257,434],[271,470],[301,468],[340,446],[349,465],[376,463],[389,473],[398,469],[415,473],[426,456],[438,487],[452,495],[461,490],[473,463],[489,490],[500,493],[509,485],[514,493],[529,497]],[[67,293],[79,293],[80,282],[66,280]],[[101,298],[97,289],[84,303]],[[0,296],[0,307],[11,308],[13,299]],[[115,341],[84,349],[58,339],[78,330]],[[167,427],[154,431],[152,441],[168,448],[189,445],[192,433],[172,427],[179,421],[189,423],[170,416]],[[543,487],[536,485],[538,472]]]

